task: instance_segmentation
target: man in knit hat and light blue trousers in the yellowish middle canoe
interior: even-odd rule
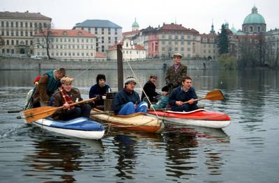
[[[140,102],[140,95],[135,92],[136,81],[134,77],[127,77],[124,81],[124,88],[116,93],[114,98],[114,113],[129,115],[132,113],[146,113],[147,103]]]

